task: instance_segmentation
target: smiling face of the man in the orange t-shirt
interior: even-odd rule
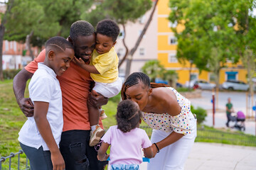
[[[75,49],[75,57],[81,58],[84,62],[88,62],[95,50],[95,34],[87,36],[78,36],[76,40],[73,40],[73,46]]]

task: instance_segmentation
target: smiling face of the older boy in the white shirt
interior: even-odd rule
[[[50,51],[49,55],[51,54]],[[53,52],[51,57],[51,68],[58,76],[61,76],[70,67],[70,62],[73,60],[75,52],[71,48],[66,48],[65,52]]]

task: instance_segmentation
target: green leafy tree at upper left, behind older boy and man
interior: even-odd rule
[[[50,37],[68,37],[70,25],[92,5],[92,0],[16,0],[6,22],[6,40],[41,47]],[[26,9],[26,10],[24,10]],[[24,19],[25,18],[25,19]]]

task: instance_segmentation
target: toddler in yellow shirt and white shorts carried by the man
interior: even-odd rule
[[[105,98],[112,98],[119,94],[122,88],[122,80],[118,77],[118,56],[114,50],[117,37],[119,35],[119,27],[116,22],[105,19],[97,23],[96,26],[96,45],[92,53],[92,59],[89,64],[80,58],[75,58],[80,67],[90,72],[90,76],[95,81],[92,93]],[[95,146],[100,142],[100,137],[105,131],[100,128],[99,119],[107,118],[103,110],[92,106],[88,103],[91,136],[89,145]]]

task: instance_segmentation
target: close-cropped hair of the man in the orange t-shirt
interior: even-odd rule
[[[95,33],[95,28],[87,21],[75,21],[70,27],[70,38],[76,40],[78,36],[88,36]]]

